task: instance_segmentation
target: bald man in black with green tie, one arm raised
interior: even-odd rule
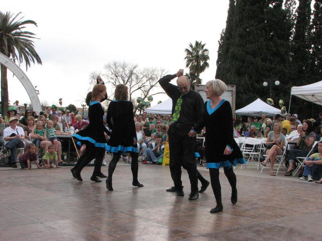
[[[177,79],[177,86],[170,83]],[[204,101],[199,93],[191,90],[189,78],[183,76],[183,69],[176,74],[166,75],[159,80],[159,84],[172,99],[172,121],[169,127],[170,146],[170,172],[175,186],[167,189],[169,192],[177,192],[178,196],[184,196],[181,181],[181,167],[188,172],[191,193],[189,200],[196,200],[198,194],[198,179],[201,181],[201,189],[204,192],[209,182],[197,171],[195,158],[196,131],[203,116]]]

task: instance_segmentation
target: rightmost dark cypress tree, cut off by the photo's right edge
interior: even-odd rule
[[[322,80],[322,0],[315,0],[311,23],[311,81]]]

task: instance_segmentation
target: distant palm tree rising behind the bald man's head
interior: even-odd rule
[[[202,41],[196,41],[195,45],[189,44],[189,48],[185,50],[186,52],[186,67],[189,67],[189,74],[191,76],[196,76],[196,84],[201,84],[201,79],[199,75],[209,67],[209,51],[205,49],[206,44],[202,44]],[[191,80],[192,82],[194,80]]]

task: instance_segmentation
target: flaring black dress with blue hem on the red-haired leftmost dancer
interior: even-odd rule
[[[89,106],[90,124],[85,129],[72,135],[78,140],[77,145],[87,144],[106,149],[107,143],[104,132],[109,136],[111,133],[104,126],[103,115],[104,109],[101,103],[99,101],[91,102]]]

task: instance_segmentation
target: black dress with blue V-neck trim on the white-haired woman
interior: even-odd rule
[[[233,139],[232,111],[229,101],[222,99],[215,108],[210,100],[205,102],[202,126],[206,127],[205,158],[208,168],[231,168],[246,164],[240,149]],[[223,155],[225,148],[232,150],[230,155]]]

